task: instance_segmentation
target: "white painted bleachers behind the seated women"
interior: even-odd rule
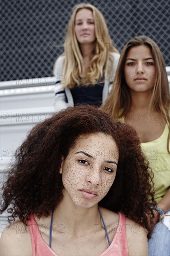
[[[170,67],[166,67],[170,85]],[[16,148],[33,126],[54,113],[54,77],[0,82],[0,184]],[[0,217],[1,230],[7,214]],[[1,234],[1,233],[0,233]]]

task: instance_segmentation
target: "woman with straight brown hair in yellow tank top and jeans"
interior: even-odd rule
[[[114,87],[102,108],[137,130],[154,171],[157,209],[163,220],[170,210],[170,92],[162,53],[149,37],[135,37],[124,46]],[[149,255],[170,255],[169,241],[170,231],[158,222],[149,239]]]

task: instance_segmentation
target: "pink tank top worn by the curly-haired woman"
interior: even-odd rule
[[[113,227],[112,231],[115,236],[111,245],[100,256],[128,256],[128,247],[126,240],[126,219],[124,214],[119,214],[118,226]],[[39,227],[33,215],[28,220],[30,230],[33,256],[58,256],[42,239]]]

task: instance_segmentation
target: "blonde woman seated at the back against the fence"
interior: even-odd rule
[[[119,60],[102,13],[91,4],[74,7],[65,51],[54,64],[55,110],[105,101]]]

